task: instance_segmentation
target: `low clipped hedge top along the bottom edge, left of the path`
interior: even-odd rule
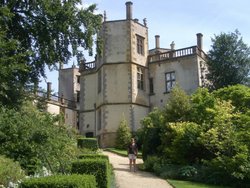
[[[93,175],[55,175],[24,180],[21,188],[96,188]]]

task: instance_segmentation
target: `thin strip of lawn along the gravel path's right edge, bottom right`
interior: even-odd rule
[[[167,180],[175,188],[229,188],[224,186],[208,185],[191,181]]]

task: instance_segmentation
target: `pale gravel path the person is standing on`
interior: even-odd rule
[[[172,188],[166,180],[148,172],[130,172],[127,157],[107,151],[103,153],[109,156],[110,163],[113,165],[116,188]],[[137,159],[136,162],[137,164],[143,163],[142,159]]]

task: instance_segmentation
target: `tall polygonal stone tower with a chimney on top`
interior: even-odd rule
[[[102,54],[80,67],[80,131],[102,147],[114,146],[123,118],[136,131],[149,112],[148,28],[132,18],[132,5],[126,3],[125,20],[103,22]]]

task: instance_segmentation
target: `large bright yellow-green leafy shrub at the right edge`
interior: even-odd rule
[[[214,110],[216,111],[214,123],[208,131],[201,134],[200,141],[215,157],[209,161],[205,160],[204,164],[225,177],[249,179],[248,142],[242,142],[232,121],[237,118],[237,114],[232,113],[233,107],[225,101],[218,101]],[[249,128],[246,130],[249,132]]]

